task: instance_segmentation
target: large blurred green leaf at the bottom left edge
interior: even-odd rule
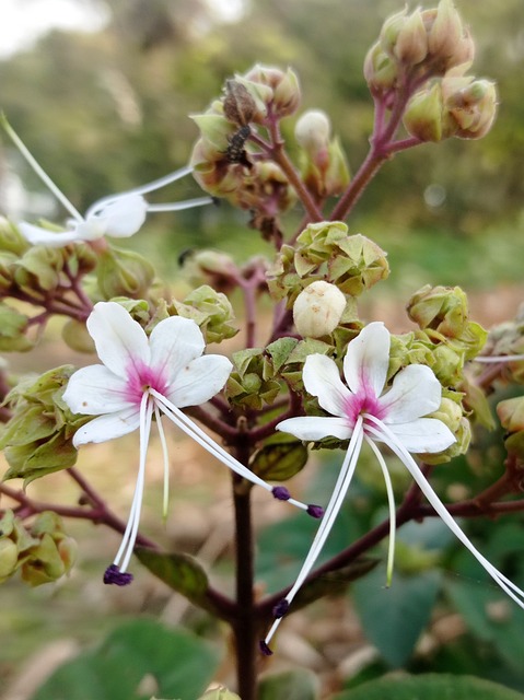
[[[151,692],[138,692],[145,676],[152,676],[160,697],[195,700],[217,666],[217,654],[188,632],[133,620],[60,666],[32,700],[148,700]]]

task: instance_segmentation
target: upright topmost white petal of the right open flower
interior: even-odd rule
[[[348,345],[343,358],[343,375],[354,394],[382,394],[389,365],[391,336],[384,324],[375,322],[362,328]]]

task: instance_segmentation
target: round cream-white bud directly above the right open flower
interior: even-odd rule
[[[328,336],[340,323],[346,296],[335,284],[318,280],[306,287],[293,305],[293,320],[301,336]]]

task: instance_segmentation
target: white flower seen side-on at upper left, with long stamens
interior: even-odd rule
[[[1,122],[27,163],[71,214],[71,219],[67,222],[67,230],[60,233],[49,231],[49,229],[43,226],[36,226],[25,221],[20,222],[18,226],[21,234],[33,245],[59,248],[70,243],[96,241],[106,235],[115,238],[127,238],[140,230],[148,212],[178,211],[213,202],[211,197],[199,197],[181,202],[148,205],[143,195],[165,187],[170,183],[174,183],[191,173],[193,168],[186,166],[127,192],[104,197],[104,199],[92,205],[86,211],[85,217],[82,217],[37,163],[5,117],[1,117]]]

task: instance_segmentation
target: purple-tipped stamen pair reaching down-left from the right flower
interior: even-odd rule
[[[310,547],[310,551],[307,552],[304,563],[302,564],[302,569],[300,570],[299,575],[296,576],[296,581],[294,582],[290,592],[288,593],[286,598],[283,598],[283,600],[281,600],[276,606],[275,614],[277,616],[277,619],[273,621],[269,632],[266,635],[266,639],[260,643],[260,650],[265,654],[271,653],[269,649],[269,642],[271,641],[275,632],[277,631],[278,626],[280,625],[280,621],[283,615],[286,615],[294,596],[301,588],[304,581],[307,579],[312,568],[315,564],[315,561],[318,559],[318,556],[326,542],[326,539],[329,533],[331,532],[331,527],[337,518],[337,515],[340,511],[342,502],[346,498],[346,493],[348,492],[349,485],[351,483],[351,479],[353,478],[354,469],[359,460],[360,451],[362,447],[362,441],[364,438],[362,425],[363,425],[363,419],[361,416],[359,416],[359,418],[357,419],[357,423],[354,424],[353,434],[351,435],[348,451],[343,458],[342,466],[340,467],[340,471],[339,471],[335,488],[333,490],[331,498],[326,508],[326,512],[318,527],[318,530],[315,535],[315,538],[313,539],[313,542]]]

